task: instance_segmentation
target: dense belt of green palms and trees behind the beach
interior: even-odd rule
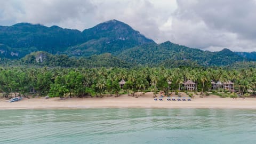
[[[119,82],[126,81],[123,89]],[[49,95],[50,97],[103,97],[103,94],[116,95],[135,92],[185,90],[183,83],[190,79],[196,83],[196,91],[206,94],[211,91],[211,81],[234,83],[233,93],[254,94],[256,69],[224,70],[222,68],[0,68],[0,92],[3,97],[17,95]],[[227,93],[218,88],[213,93]],[[139,95],[137,95],[139,97]]]

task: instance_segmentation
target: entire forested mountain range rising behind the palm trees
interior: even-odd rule
[[[255,64],[256,53],[156,44],[129,25],[110,20],[83,31],[30,23],[0,26],[0,58],[1,65],[50,67],[244,67]]]

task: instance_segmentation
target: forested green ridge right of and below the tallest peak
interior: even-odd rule
[[[195,66],[226,66],[234,62],[249,61],[228,49],[210,52],[192,49],[169,41],[162,44],[147,44],[133,47],[123,51],[118,57],[138,65],[155,66],[159,65],[159,63],[164,66],[168,63],[169,66],[179,65],[179,63],[183,63],[185,66],[191,65],[191,63]]]

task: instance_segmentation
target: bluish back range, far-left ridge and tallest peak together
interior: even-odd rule
[[[115,53],[153,40],[117,20],[110,20],[85,29],[63,29],[30,23],[0,26],[0,57],[21,58],[33,51],[51,54],[92,55]]]

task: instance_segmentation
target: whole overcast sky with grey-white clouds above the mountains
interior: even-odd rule
[[[116,19],[156,43],[256,51],[256,0],[0,0],[0,25],[84,30]]]

